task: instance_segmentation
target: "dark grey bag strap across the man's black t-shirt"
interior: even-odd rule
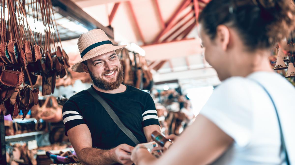
[[[114,120],[114,122],[117,124],[117,126],[137,145],[139,144],[139,141],[137,138],[132,134],[132,132],[121,122],[119,117],[116,115],[114,110],[104,101],[103,98],[99,94],[97,94],[92,87],[88,88],[87,91],[104,107],[106,112],[110,115],[110,117]]]

